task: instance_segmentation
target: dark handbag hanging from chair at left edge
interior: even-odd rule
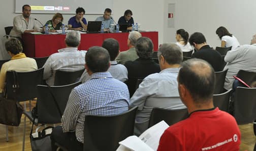
[[[16,93],[19,88],[17,73],[13,72],[14,84],[13,92]],[[14,99],[8,99],[6,85],[0,98],[0,123],[10,126],[19,126],[20,118],[23,113],[23,107]]]

